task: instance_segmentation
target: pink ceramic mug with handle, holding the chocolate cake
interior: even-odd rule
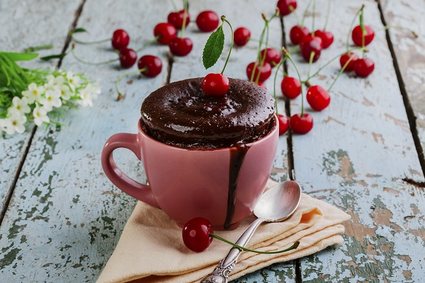
[[[124,193],[162,209],[180,227],[195,217],[215,230],[232,230],[247,218],[265,188],[278,145],[278,124],[254,143],[221,149],[189,149],[150,138],[138,121],[138,134],[114,134],[104,146],[106,176]],[[148,184],[117,167],[114,149],[130,149],[142,160]]]

